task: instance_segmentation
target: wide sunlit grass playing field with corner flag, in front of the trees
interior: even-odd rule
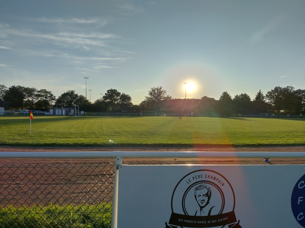
[[[0,118],[3,146],[305,145],[305,119],[172,117]]]

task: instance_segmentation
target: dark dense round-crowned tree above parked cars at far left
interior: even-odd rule
[[[23,109],[24,93],[23,87],[11,86],[4,95],[4,100],[8,102],[8,105],[12,108]]]

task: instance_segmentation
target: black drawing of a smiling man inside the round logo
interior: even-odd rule
[[[198,185],[194,190],[195,199],[199,206],[195,216],[210,216],[214,206],[210,204],[211,189],[204,184]]]

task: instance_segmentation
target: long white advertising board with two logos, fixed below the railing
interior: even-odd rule
[[[117,227],[305,227],[304,165],[119,166]]]

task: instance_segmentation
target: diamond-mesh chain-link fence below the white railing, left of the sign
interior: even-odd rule
[[[111,227],[114,169],[114,158],[0,159],[0,227]]]

